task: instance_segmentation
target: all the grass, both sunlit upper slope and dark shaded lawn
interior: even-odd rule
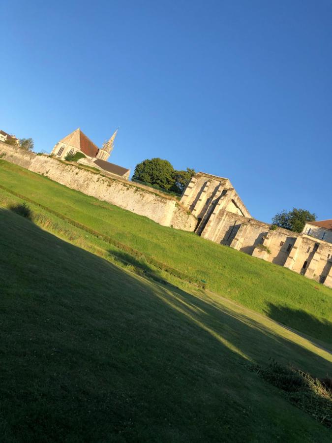
[[[1,160],[0,185],[1,442],[331,441],[252,370],[331,376],[331,290]]]

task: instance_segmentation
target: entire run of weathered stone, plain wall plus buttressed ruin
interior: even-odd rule
[[[284,266],[332,287],[332,243],[252,219],[227,178],[199,172],[191,179],[179,203],[144,185],[113,178],[112,174],[104,177],[73,163],[36,156],[1,142],[0,156],[68,188],[149,217],[164,226],[195,231],[215,243]],[[307,232],[306,229],[303,232]],[[323,236],[321,229],[315,232],[317,237]]]

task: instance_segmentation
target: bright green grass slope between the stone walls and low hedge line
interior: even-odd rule
[[[206,280],[212,291],[332,343],[332,291],[323,285],[193,233],[160,226],[3,160],[0,181],[193,278]]]

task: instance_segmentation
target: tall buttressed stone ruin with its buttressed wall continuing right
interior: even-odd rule
[[[181,202],[197,216],[195,231],[202,237],[332,287],[332,244],[322,240],[321,228],[315,230],[318,240],[254,220],[228,179],[202,172],[192,178]]]

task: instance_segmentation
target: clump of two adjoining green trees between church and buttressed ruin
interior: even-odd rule
[[[182,193],[194,174],[194,169],[177,171],[168,160],[151,158],[136,165],[132,179]]]

